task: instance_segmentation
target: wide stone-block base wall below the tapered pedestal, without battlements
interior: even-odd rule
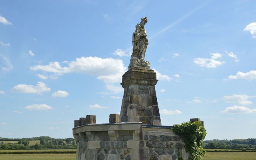
[[[73,128],[76,160],[188,160],[184,142],[172,126],[141,122],[86,124]]]

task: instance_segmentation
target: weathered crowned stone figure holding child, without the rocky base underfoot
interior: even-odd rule
[[[136,25],[136,30],[132,34],[132,57],[144,60],[145,52],[148,46],[147,33],[144,26],[148,22],[147,17],[141,18],[140,24]]]

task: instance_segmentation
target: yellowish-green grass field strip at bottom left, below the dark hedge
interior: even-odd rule
[[[76,154],[0,154],[0,160],[75,160]]]

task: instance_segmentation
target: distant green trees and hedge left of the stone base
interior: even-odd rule
[[[40,143],[30,145],[30,140],[40,140]],[[49,136],[40,136],[33,138],[0,138],[0,142],[2,141],[18,141],[18,143],[1,143],[0,149],[43,149],[76,147],[76,140],[74,138],[51,138]]]

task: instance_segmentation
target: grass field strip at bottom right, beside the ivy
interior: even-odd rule
[[[256,152],[207,152],[203,160],[256,160]]]

